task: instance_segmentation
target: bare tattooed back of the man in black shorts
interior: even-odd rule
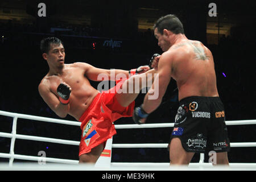
[[[212,53],[201,42],[188,40],[172,46],[172,77],[179,100],[189,96],[218,97]]]

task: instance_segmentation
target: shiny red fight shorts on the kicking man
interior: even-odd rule
[[[79,156],[90,152],[92,148],[115,135],[117,132],[113,125],[114,121],[133,115],[134,101],[123,107],[115,99],[115,94],[118,94],[115,88],[118,85],[99,93],[79,119],[82,130]]]

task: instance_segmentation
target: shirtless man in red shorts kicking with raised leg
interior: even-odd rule
[[[154,69],[148,66],[131,71],[115,69],[115,75],[123,73],[129,78],[120,81],[109,92],[100,93],[90,85],[89,80],[102,81],[98,77],[100,74],[105,74],[110,80],[110,70],[95,68],[86,63],[64,64],[65,49],[57,38],[43,39],[40,48],[49,65],[49,72],[39,84],[39,93],[59,117],[64,118],[69,114],[81,122],[79,162],[96,163],[105,148],[106,140],[116,134],[113,122],[121,117],[131,117],[134,100],[139,94],[117,93],[117,86],[128,90],[131,80],[147,77],[148,73],[154,73]],[[139,90],[142,89],[141,85]]]

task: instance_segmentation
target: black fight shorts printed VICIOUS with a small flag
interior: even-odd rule
[[[180,100],[171,139],[175,137],[187,152],[230,151],[220,98],[192,96]]]

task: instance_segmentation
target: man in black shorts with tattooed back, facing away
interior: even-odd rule
[[[225,111],[217,90],[212,52],[201,42],[189,40],[175,15],[159,18],[154,34],[164,53],[154,68],[158,76],[143,104],[134,109],[135,123],[144,123],[148,114],[161,104],[174,78],[180,107],[169,144],[170,164],[189,164],[195,152],[204,152],[206,148],[216,151],[216,164],[229,164]],[[152,100],[152,94],[159,97]]]

